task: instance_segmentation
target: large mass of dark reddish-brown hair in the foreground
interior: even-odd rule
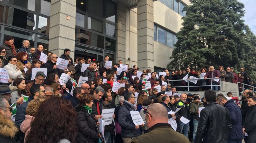
[[[31,122],[26,142],[57,143],[67,139],[75,143],[78,133],[76,113],[69,100],[54,96],[45,99]]]

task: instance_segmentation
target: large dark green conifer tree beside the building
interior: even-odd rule
[[[226,67],[256,69],[255,35],[245,25],[237,0],[190,0],[167,65],[169,69]],[[252,62],[252,63],[248,63]],[[253,70],[255,71],[255,70]],[[256,75],[256,73],[254,73]],[[255,76],[256,77],[256,76]]]

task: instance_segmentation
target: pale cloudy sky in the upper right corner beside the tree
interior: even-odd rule
[[[245,24],[249,25],[254,34],[256,34],[256,0],[238,0],[245,5]]]

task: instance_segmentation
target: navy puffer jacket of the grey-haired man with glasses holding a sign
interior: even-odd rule
[[[140,129],[135,129],[130,111],[135,111],[135,108],[131,103],[125,100],[123,106],[118,111],[118,122],[122,129],[122,137],[131,138],[140,135]]]

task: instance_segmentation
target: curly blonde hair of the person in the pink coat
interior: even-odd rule
[[[28,107],[26,109],[27,115],[35,116],[40,104],[44,101],[44,98],[37,98],[28,103]]]

